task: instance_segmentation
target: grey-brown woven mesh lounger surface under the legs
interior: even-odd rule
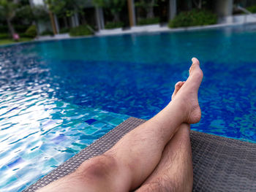
[[[36,191],[100,155],[145,120],[129,118],[24,191]],[[256,191],[256,144],[191,131],[193,191]]]

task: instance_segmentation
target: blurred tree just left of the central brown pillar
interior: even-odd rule
[[[110,14],[113,15],[113,22],[120,21],[119,13],[124,7],[126,0],[94,0],[94,4],[97,7],[106,8],[110,11]]]

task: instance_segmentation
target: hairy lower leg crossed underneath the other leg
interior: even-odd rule
[[[193,185],[190,128],[182,123],[167,143],[162,158],[154,172],[138,188],[138,192],[191,192]]]

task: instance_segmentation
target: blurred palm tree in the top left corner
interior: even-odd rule
[[[0,0],[0,15],[5,18],[12,37],[15,34],[15,28],[12,26],[12,19],[18,9],[18,0],[8,1]]]

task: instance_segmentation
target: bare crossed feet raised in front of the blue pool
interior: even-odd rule
[[[197,93],[203,79],[199,61],[197,58],[192,58],[192,62],[187,81],[178,82],[172,96],[172,101],[176,101],[184,107],[186,113],[184,122],[189,124],[197,123],[201,118]]]

